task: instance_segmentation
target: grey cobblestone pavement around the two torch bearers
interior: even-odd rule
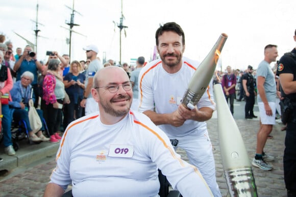
[[[216,162],[217,183],[221,194],[226,196],[228,187],[226,184],[223,165],[221,163],[220,149],[217,134],[217,119],[212,118],[207,121],[208,130],[214,148],[214,157]],[[256,149],[256,134],[259,129],[258,120],[236,120],[238,128],[244,140],[245,147],[252,161]],[[284,177],[283,177],[283,151],[285,131],[281,131],[283,125],[277,123],[274,126],[273,139],[267,139],[264,151],[267,154],[274,155],[276,160],[270,162],[274,166],[273,171],[262,171],[253,167],[255,182],[259,196],[286,196]],[[229,136],[231,137],[231,136]],[[41,143],[42,144],[42,143]],[[50,144],[50,143],[48,143]],[[35,145],[34,145],[35,146]],[[183,150],[177,151],[182,158],[187,160]],[[55,153],[47,160],[26,166],[18,167],[18,170],[12,170],[5,176],[0,176],[0,196],[42,196],[45,185],[47,184],[51,171],[55,167]],[[20,169],[20,170],[19,170]]]

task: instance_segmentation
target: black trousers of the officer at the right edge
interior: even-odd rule
[[[296,117],[296,110],[293,111],[293,117]],[[286,188],[292,191],[296,196],[296,123],[287,124],[285,151],[284,151],[284,180]]]

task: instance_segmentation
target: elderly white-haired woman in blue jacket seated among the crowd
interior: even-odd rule
[[[32,131],[29,122],[28,109],[29,109],[29,100],[31,99],[32,86],[31,82],[34,80],[33,73],[26,71],[20,76],[20,80],[16,81],[13,85],[12,90],[10,91],[12,101],[9,102],[11,107],[11,114],[13,115],[13,120],[19,122],[21,119],[24,120],[27,124],[27,129],[29,132],[29,137],[32,142],[45,142],[50,140],[42,134],[44,130],[44,124],[42,122],[41,129],[35,134]],[[33,94],[33,101],[35,95]],[[40,119],[43,119],[43,111],[36,109]]]

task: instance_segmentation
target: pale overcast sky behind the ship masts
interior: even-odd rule
[[[295,0],[249,0],[249,1],[198,1],[198,0],[122,0],[126,35],[121,35],[121,62],[144,56],[150,60],[155,46],[155,32],[160,23],[175,21],[185,32],[184,55],[202,61],[221,33],[229,38],[221,52],[223,69],[257,68],[263,60],[267,44],[278,45],[279,55],[295,47],[293,33],[296,29]],[[24,48],[26,41],[35,44],[36,6],[39,5],[38,59],[47,60],[46,50],[69,53],[69,28],[72,0],[10,0],[0,6],[0,32],[16,47]],[[66,6],[65,6],[66,5]],[[95,44],[98,56],[119,62],[119,23],[121,0],[75,0],[74,26],[72,30],[71,60],[84,60],[82,47]],[[63,27],[61,27],[63,26]],[[280,57],[279,57],[280,58]],[[279,59],[278,58],[278,59]],[[272,63],[274,64],[274,63]]]

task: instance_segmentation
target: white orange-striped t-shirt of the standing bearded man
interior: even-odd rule
[[[178,109],[188,88],[191,76],[200,64],[188,58],[182,59],[182,68],[174,74],[167,73],[161,60],[155,60],[143,67],[139,74],[139,111],[154,110],[158,114],[171,113]],[[213,83],[197,104],[198,108],[210,107],[215,110]],[[207,132],[206,122],[186,120],[180,127],[159,125],[169,138],[182,136],[201,136]]]

